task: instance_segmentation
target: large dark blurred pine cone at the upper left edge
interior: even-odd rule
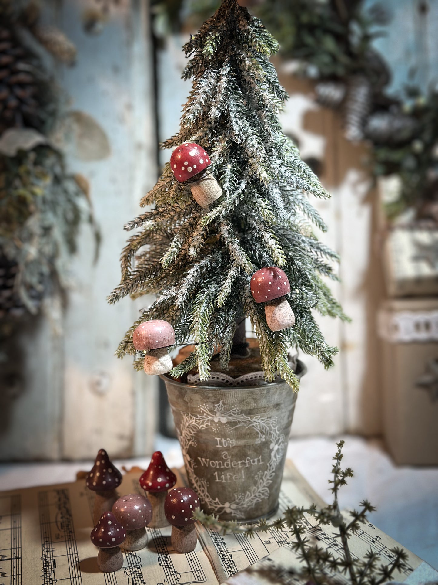
[[[38,87],[25,48],[0,26],[0,132],[11,126],[36,126]]]

